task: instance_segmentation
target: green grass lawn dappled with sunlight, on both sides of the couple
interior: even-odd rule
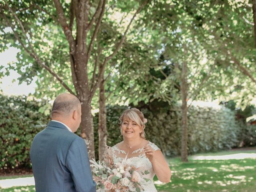
[[[234,150],[198,154],[220,156],[236,153],[256,153],[256,150]],[[168,159],[172,170],[171,182],[162,184],[155,177],[158,192],[254,192],[256,191],[256,159],[192,160]],[[12,177],[15,178],[15,177]],[[0,189],[0,192],[35,192],[34,186]]]

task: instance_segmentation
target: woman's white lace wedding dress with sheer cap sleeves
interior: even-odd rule
[[[160,150],[160,148],[158,148],[156,144],[152,142],[149,142],[149,144],[154,150]],[[143,147],[131,152],[131,154],[129,154],[129,158],[127,158],[128,154],[126,154],[124,150],[120,150],[116,145],[111,147],[111,150],[114,154],[114,163],[121,163],[124,160],[126,161],[126,164],[130,166],[134,166],[136,168],[145,167],[150,172],[145,177],[150,179],[150,181],[146,182],[146,184],[142,184],[144,192],[157,192],[153,181],[155,172],[153,170],[151,162],[146,157]]]

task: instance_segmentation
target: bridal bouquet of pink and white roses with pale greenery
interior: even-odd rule
[[[150,179],[143,178],[149,174],[145,168],[135,168],[125,162],[114,164],[110,148],[106,149],[105,161],[90,159],[92,176],[97,184],[97,192],[142,192],[141,184]]]

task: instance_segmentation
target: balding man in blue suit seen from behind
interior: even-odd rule
[[[30,149],[36,192],[96,192],[86,144],[74,134],[81,114],[76,96],[60,94],[54,100],[52,120]]]

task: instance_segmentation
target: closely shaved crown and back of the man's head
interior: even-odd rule
[[[53,102],[52,118],[56,116],[68,116],[80,106],[80,101],[76,96],[69,93],[60,94]]]

